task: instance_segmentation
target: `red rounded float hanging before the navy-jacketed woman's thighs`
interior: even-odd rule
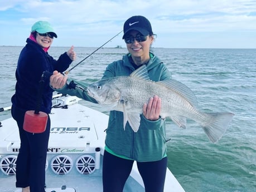
[[[39,134],[45,131],[48,115],[45,112],[26,111],[23,123],[23,129],[33,134]]]

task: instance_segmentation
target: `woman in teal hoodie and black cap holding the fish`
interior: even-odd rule
[[[151,23],[143,16],[133,16],[124,23],[123,39],[129,53],[122,60],[108,65],[102,78],[129,76],[142,65],[147,66],[152,81],[171,78],[170,72],[161,60],[150,52],[154,40]],[[96,102],[86,92],[74,90],[71,84],[86,88],[88,84],[69,79],[54,72],[51,86],[58,92],[75,95],[81,99]],[[123,112],[110,111],[105,151],[103,158],[103,191],[121,192],[125,181],[137,161],[145,191],[162,192],[167,168],[165,120],[160,117],[161,99],[149,99],[143,106],[141,125],[134,132],[129,124],[123,129]]]

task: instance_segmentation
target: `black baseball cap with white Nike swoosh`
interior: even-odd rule
[[[127,33],[131,30],[136,30],[140,32],[143,36],[147,35],[153,35],[152,27],[150,22],[146,17],[143,16],[132,16],[127,19],[124,23],[124,35],[127,35]]]

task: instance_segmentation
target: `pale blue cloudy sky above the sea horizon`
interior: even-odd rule
[[[24,46],[42,20],[52,46],[100,47],[134,15],[151,22],[153,47],[256,48],[256,0],[0,0],[0,46]],[[122,36],[104,47],[126,47]]]

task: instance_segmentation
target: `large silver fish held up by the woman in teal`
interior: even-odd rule
[[[226,131],[234,114],[229,112],[205,113],[196,109],[194,93],[181,82],[170,79],[160,82],[149,80],[146,66],[131,76],[117,76],[91,83],[88,95],[110,110],[124,113],[127,123],[137,132],[142,107],[157,95],[161,98],[161,118],[170,117],[179,127],[186,128],[186,119],[199,123],[210,141],[217,142]]]

